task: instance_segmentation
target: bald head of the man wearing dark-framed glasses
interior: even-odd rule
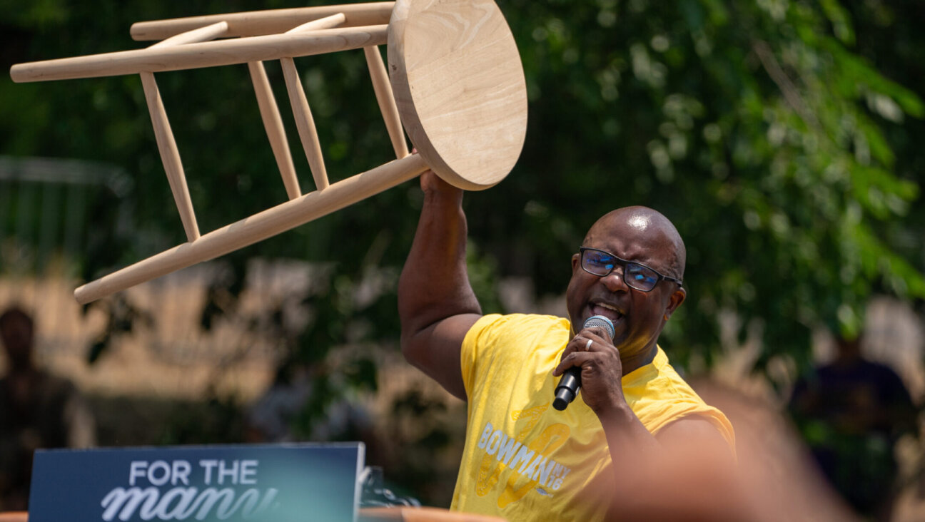
[[[566,303],[573,328],[579,330],[592,315],[603,315],[613,322],[613,344],[623,358],[653,349],[665,322],[686,296],[681,285],[660,277],[684,278],[685,244],[672,222],[646,207],[625,207],[598,219],[582,247],[603,250],[620,259],[608,265],[612,266],[611,273],[599,276],[582,268],[581,254],[572,256]],[[660,274],[654,287],[645,292],[627,285],[621,260]]]

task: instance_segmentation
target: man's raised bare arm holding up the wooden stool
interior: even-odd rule
[[[421,188],[424,207],[399,279],[401,352],[465,400],[462,339],[482,309],[466,272],[462,189],[430,171],[421,176]]]

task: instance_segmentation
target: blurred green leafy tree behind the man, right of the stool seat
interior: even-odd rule
[[[505,5],[530,129],[517,171],[470,198],[472,234],[507,254],[502,273],[560,292],[593,219],[659,209],[688,248],[688,303],[663,339],[679,361],[709,360],[718,310],[735,310],[743,335],[764,325],[759,362],[783,353],[806,365],[810,328],[851,335],[872,292],[925,295],[921,258],[898,253],[921,252],[920,222],[904,219],[920,175],[894,152],[915,141],[886,133],[925,109],[851,51],[838,2]],[[887,53],[881,42],[865,53]],[[897,244],[910,233],[916,248]]]

